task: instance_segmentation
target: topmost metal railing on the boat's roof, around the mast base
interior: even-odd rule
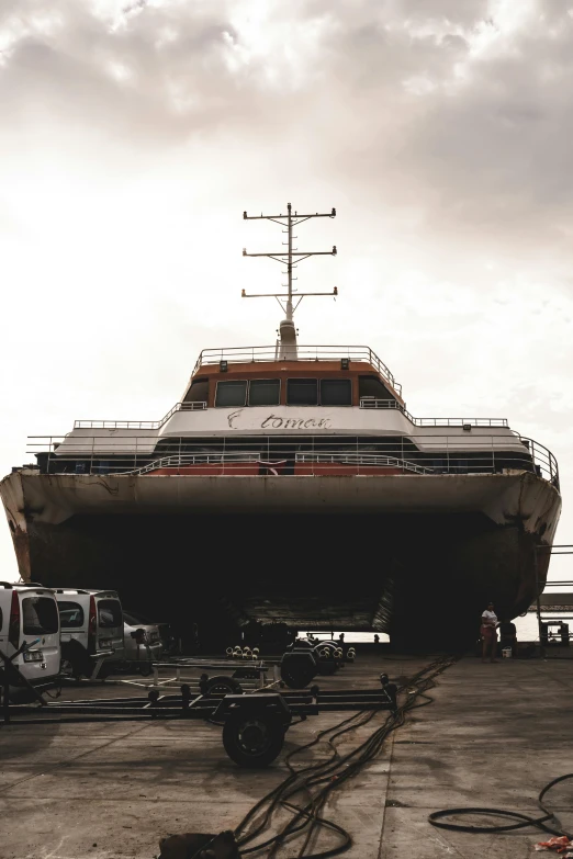
[[[370,364],[382,378],[389,382],[396,394],[402,396],[402,385],[396,382],[383,361],[368,346],[297,346],[297,361],[339,361],[349,358],[350,361],[361,361]],[[193,374],[209,364],[228,361],[232,364],[248,364],[251,362],[280,361],[277,346],[248,346],[231,349],[203,349],[196,360]],[[292,360],[292,359],[289,359]]]

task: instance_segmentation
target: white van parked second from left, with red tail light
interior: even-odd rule
[[[91,675],[93,659],[124,658],[123,611],[115,590],[55,588],[61,625],[61,656],[74,674]],[[79,647],[81,645],[81,647]]]

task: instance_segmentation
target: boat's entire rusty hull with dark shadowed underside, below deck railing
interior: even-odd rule
[[[41,475],[0,485],[23,578],[114,587],[186,635],[252,621],[468,644],[493,600],[542,589],[561,499],[529,473],[348,477]],[[536,549],[542,546],[544,549]]]

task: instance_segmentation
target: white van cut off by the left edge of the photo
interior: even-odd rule
[[[24,642],[32,647],[12,664],[33,686],[52,682],[59,674],[59,615],[54,591],[42,585],[0,581],[0,649],[7,656]],[[2,660],[0,659],[0,667]]]

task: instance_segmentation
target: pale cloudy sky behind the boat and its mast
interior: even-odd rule
[[[2,0],[0,471],[75,418],[156,419],[196,354],[368,343],[419,417],[508,417],[573,542],[573,2]],[[303,231],[304,230],[304,231]],[[0,528],[2,578],[15,574]],[[573,560],[571,562],[573,565]],[[571,566],[563,577],[573,578]]]

